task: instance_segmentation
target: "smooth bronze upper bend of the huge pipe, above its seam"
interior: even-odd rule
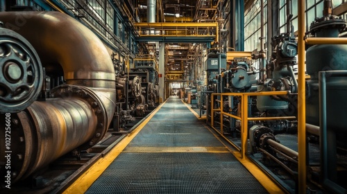
[[[53,64],[54,70],[60,64],[67,84],[70,80],[115,80],[110,55],[101,40],[69,15],[0,12],[0,21],[31,42],[43,66]]]

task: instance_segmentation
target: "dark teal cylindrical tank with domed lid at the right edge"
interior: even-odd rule
[[[330,18],[316,21],[311,26],[311,33],[316,37],[338,37],[339,30],[346,26],[346,21]],[[308,96],[306,99],[306,121],[319,125],[319,71],[347,70],[347,45],[319,44],[306,51],[307,73],[311,79],[307,81]],[[347,96],[347,82],[343,77],[331,77],[326,80],[328,128],[345,130],[347,128],[347,109],[344,103]],[[334,116],[332,116],[334,115]]]

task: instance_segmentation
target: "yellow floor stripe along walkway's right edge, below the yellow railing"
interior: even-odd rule
[[[207,128],[219,141],[221,141],[221,139],[219,138],[219,136],[217,136],[216,134],[214,134],[214,132],[212,132],[210,130],[209,127],[207,127],[206,125],[204,125],[205,128]],[[223,143],[223,141],[221,141],[221,143]],[[223,145],[226,146],[226,148],[228,148],[228,146],[226,144],[223,143]],[[260,182],[260,184],[262,184],[262,186],[264,186],[264,188],[266,189],[266,191],[268,191],[269,193],[285,193],[284,191],[282,191],[282,189],[275,184],[258,166],[256,166],[253,161],[251,161],[251,159],[248,159],[248,157],[242,159],[242,155],[241,152],[235,151],[235,150],[229,150],[232,155],[234,155],[237,160],[249,171],[249,173],[251,173],[253,175],[253,177],[255,177],[255,179],[257,179],[258,182]]]

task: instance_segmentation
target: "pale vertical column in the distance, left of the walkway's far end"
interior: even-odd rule
[[[159,44],[159,74],[162,75],[159,78],[159,99],[162,99],[162,102],[165,100],[164,88],[165,88],[165,43],[160,42]]]

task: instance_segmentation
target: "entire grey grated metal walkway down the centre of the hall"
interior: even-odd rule
[[[269,193],[170,97],[85,193]]]

